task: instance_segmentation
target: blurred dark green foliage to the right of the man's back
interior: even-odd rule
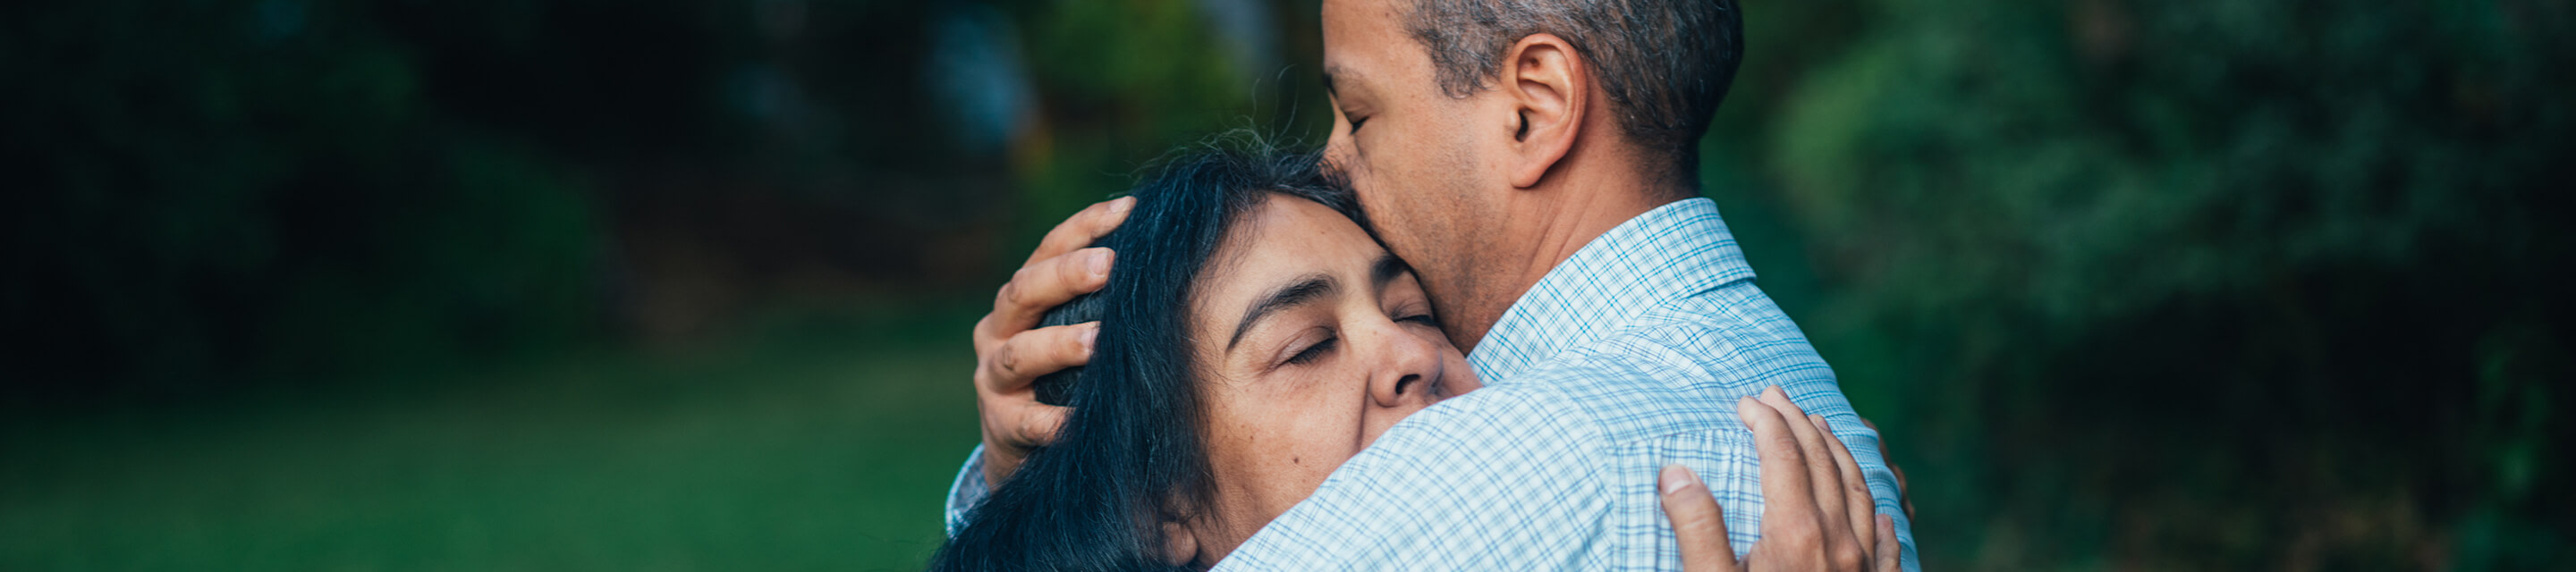
[[[2576,510],[2532,453],[2571,443],[2568,15],[1870,8],[1762,134],[1826,283],[1803,322],[1919,474],[1924,554],[2576,557],[2532,544]]]

